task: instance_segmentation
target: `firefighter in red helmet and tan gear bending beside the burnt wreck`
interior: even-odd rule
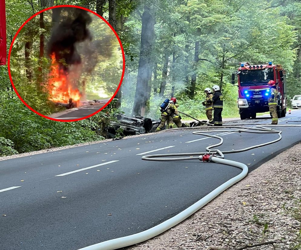
[[[176,105],[176,103],[177,99],[175,97],[170,98],[167,108],[161,113],[161,123],[157,127],[156,132],[160,131],[165,126],[166,122],[168,128],[172,128],[173,123],[175,123],[178,128],[182,126],[181,118],[177,110],[179,105]]]

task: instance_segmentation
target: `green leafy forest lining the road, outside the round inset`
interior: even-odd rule
[[[28,110],[0,67],[0,154],[28,152],[101,139],[114,113],[160,117],[159,106],[175,96],[179,110],[205,117],[203,90],[219,85],[223,117],[237,117],[231,74],[240,62],[272,61],[286,69],[287,99],[301,94],[301,3],[294,0],[6,0],[8,48],[18,28],[53,5],[95,11],[116,30],[125,52],[125,74],[116,103],[89,119],[59,123]],[[43,35],[45,29],[40,29]],[[26,41],[23,46],[25,49]],[[101,124],[101,125],[99,125]],[[30,145],[30,146],[29,146]]]

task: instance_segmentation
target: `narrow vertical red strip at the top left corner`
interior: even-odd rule
[[[6,64],[5,0],[0,0],[0,65]]]

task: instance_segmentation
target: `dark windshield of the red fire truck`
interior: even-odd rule
[[[242,70],[239,73],[240,86],[267,85],[274,80],[273,68]]]

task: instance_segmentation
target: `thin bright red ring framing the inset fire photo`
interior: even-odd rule
[[[114,95],[111,97],[111,99],[103,106],[101,107],[98,111],[95,111],[94,113],[92,113],[91,115],[88,115],[88,116],[85,116],[85,117],[82,117],[82,118],[78,118],[78,119],[73,119],[73,120],[61,120],[61,119],[55,119],[55,118],[51,118],[51,117],[48,117],[48,116],[45,116],[43,114],[40,114],[39,112],[35,111],[32,107],[30,107],[22,98],[21,96],[19,95],[17,89],[15,88],[15,85],[12,81],[12,75],[11,75],[11,72],[10,72],[10,56],[11,56],[11,53],[12,53],[12,46],[15,42],[15,39],[16,37],[18,36],[20,30],[25,26],[25,24],[28,23],[28,21],[30,21],[32,18],[34,18],[35,16],[37,16],[38,14],[40,14],[41,12],[44,12],[44,11],[47,11],[47,10],[50,10],[50,9],[54,9],[54,8],[61,8],[61,7],[73,7],[73,8],[79,8],[79,9],[83,9],[83,10],[86,10],[86,11],[89,11],[91,13],[93,13],[94,15],[98,16],[99,18],[101,18],[106,24],[108,24],[108,26],[111,28],[111,30],[113,30],[115,36],[117,37],[118,39],[118,42],[120,44],[120,47],[121,47],[121,51],[122,51],[122,59],[123,59],[123,67],[122,67],[122,74],[121,74],[121,79],[120,79],[120,82],[119,82],[119,85],[117,87],[117,90],[115,91]],[[41,117],[44,117],[46,119],[49,119],[49,120],[54,120],[54,121],[61,121],[61,122],[72,122],[72,121],[79,121],[79,120],[84,120],[86,118],[89,118],[91,116],[93,116],[94,114],[97,114],[99,111],[103,110],[105,107],[108,106],[108,104],[113,100],[113,98],[115,97],[115,95],[117,94],[120,86],[121,86],[121,83],[123,81],[123,77],[124,77],[124,70],[125,70],[125,57],[124,57],[124,50],[123,50],[123,47],[122,47],[122,44],[121,44],[121,40],[120,38],[118,37],[116,31],[113,29],[113,27],[111,26],[111,24],[108,23],[107,20],[105,20],[103,17],[101,17],[99,14],[95,13],[94,11],[91,11],[87,8],[84,8],[84,7],[81,7],[81,6],[76,6],[76,5],[57,5],[57,6],[52,6],[52,7],[49,7],[49,8],[46,8],[44,10],[41,10],[39,12],[37,12],[36,14],[34,14],[33,16],[31,16],[30,18],[28,18],[24,24],[22,24],[22,26],[18,29],[17,33],[15,34],[14,36],[14,39],[12,40],[12,43],[11,43],[11,46],[9,48],[9,52],[8,52],[8,75],[9,75],[9,79],[12,83],[12,87],[14,88],[16,94],[18,95],[18,97],[20,98],[20,100],[25,104],[26,107],[28,107],[31,111],[35,112],[36,114],[40,115]]]

